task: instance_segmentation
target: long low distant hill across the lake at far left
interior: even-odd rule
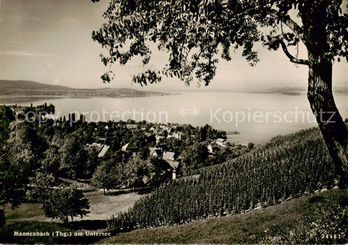
[[[140,91],[129,88],[71,88],[26,80],[0,80],[1,95],[52,95],[81,97],[141,97],[168,93]]]

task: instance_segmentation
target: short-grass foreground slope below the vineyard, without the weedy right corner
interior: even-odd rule
[[[245,214],[237,214],[184,225],[134,230],[98,241],[100,244],[260,244],[301,229],[305,217],[317,214],[317,205],[330,209],[348,201],[348,191],[331,189]],[[346,209],[347,210],[347,209]],[[346,214],[347,217],[347,214]],[[348,220],[346,220],[348,222]],[[346,223],[347,225],[347,223]],[[347,229],[347,226],[346,226]],[[348,231],[346,230],[348,235]],[[347,238],[347,236],[346,236]],[[325,242],[319,239],[319,243]],[[342,243],[342,241],[336,241]],[[347,242],[347,240],[346,240]]]

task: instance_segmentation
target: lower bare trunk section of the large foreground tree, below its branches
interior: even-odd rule
[[[348,185],[348,130],[332,93],[332,63],[308,54],[308,101],[339,174],[339,186]]]

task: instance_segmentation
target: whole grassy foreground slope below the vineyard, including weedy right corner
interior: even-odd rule
[[[344,203],[346,203],[346,211],[342,215],[337,207]],[[185,225],[119,233],[97,243],[344,244],[348,242],[347,236],[344,238],[341,235],[339,238],[338,230],[341,229],[341,234],[347,232],[347,203],[347,190],[334,189],[245,214],[194,221]],[[329,213],[331,215],[325,216]],[[337,216],[334,217],[335,215]],[[315,222],[318,228],[312,227],[310,222]],[[328,226],[324,228],[323,232],[321,229],[325,225]],[[291,232],[293,235],[290,235]],[[310,238],[310,234],[314,236]],[[336,239],[334,239],[335,234]]]

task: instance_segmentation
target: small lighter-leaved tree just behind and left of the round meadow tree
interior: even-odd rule
[[[32,198],[40,198],[43,206],[51,193],[51,188],[56,184],[56,180],[52,174],[44,171],[37,171],[35,177],[29,178],[31,188],[29,195]]]

